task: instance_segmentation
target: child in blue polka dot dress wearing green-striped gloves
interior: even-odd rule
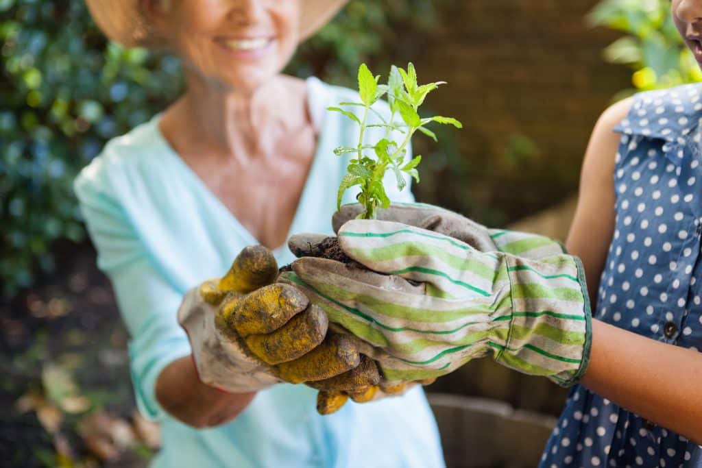
[[[671,8],[702,64],[702,0]],[[393,206],[380,218],[395,222],[352,220],[339,231],[353,260],[421,287],[397,279],[383,288],[383,277],[359,279],[329,260],[302,258],[293,270],[331,320],[378,350],[385,378],[387,369],[441,375],[493,348],[524,373],[579,380],[542,467],[702,467],[701,142],[702,84],[637,95],[597,123],[567,241],[585,268],[591,328],[582,326],[590,309],[572,289],[583,281],[571,260],[510,256],[504,236],[440,208]],[[343,208],[336,218],[352,214]],[[478,282],[482,300],[466,293]]]

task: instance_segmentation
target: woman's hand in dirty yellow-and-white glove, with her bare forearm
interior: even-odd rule
[[[374,376],[360,372],[355,340],[328,335],[326,314],[297,288],[272,283],[277,274],[269,250],[248,247],[226,276],[185,295],[178,319],[192,361],[174,361],[157,382],[159,402],[173,416],[208,427],[236,417],[258,390],[280,382],[324,384],[346,374],[378,382],[374,364]]]

